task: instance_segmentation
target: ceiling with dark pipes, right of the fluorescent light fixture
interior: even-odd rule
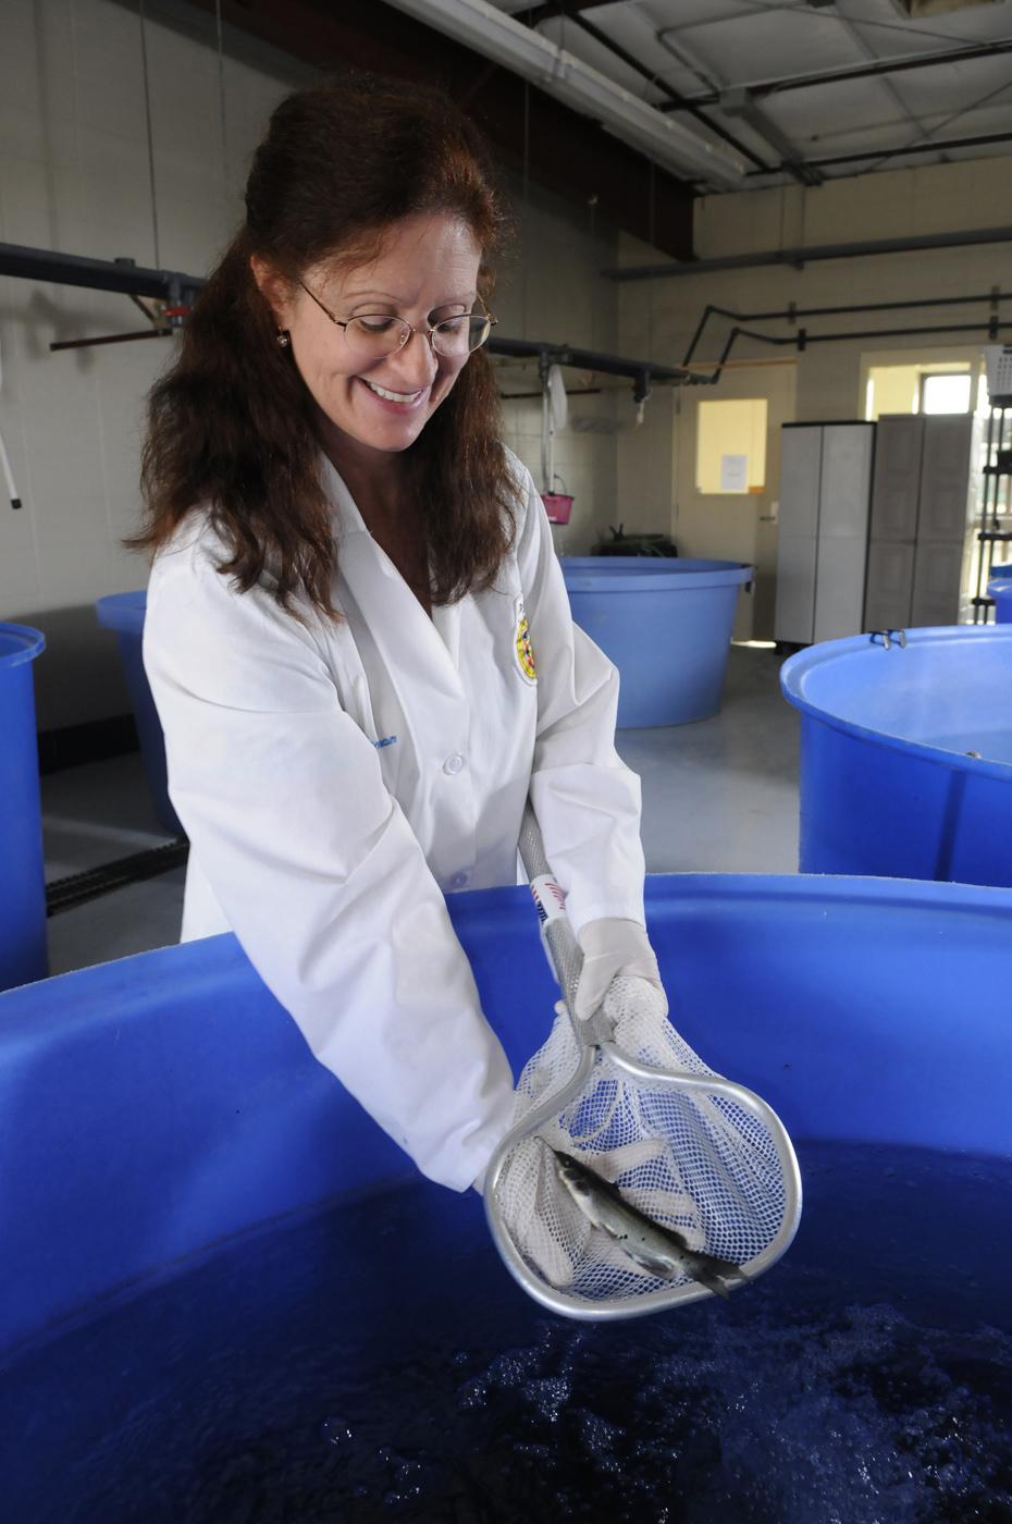
[[[719,149],[700,187],[1012,152],[1012,0],[488,3]]]

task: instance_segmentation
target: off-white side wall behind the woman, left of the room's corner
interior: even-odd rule
[[[0,241],[192,274],[210,268],[239,221],[248,157],[270,111],[311,76],[233,29],[224,41],[223,140],[213,15],[184,0],[148,3],[152,171],[137,8],[3,0]],[[617,293],[599,270],[616,262],[616,233],[536,187],[518,212],[498,334],[611,351]],[[125,296],[0,279],[0,430],[24,501],[18,514],[0,506],[0,619],[47,636],[35,664],[44,730],[128,710],[114,642],[93,605],[146,579],[143,559],[120,539],[137,523],[143,398],[172,341],[55,355],[49,344],[143,326]],[[514,375],[503,384],[532,390],[536,375],[533,386],[530,373],[526,384]],[[605,427],[616,407],[611,395],[573,399],[575,413],[604,416]],[[508,442],[535,474],[540,418],[536,402],[506,407]],[[614,517],[614,436],[570,431],[556,471],[576,497],[567,535],[582,549]]]

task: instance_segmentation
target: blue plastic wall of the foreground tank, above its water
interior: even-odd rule
[[[646,907],[680,1030],[796,1141],[1012,1155],[1012,893],[672,875],[648,879]],[[529,892],[450,911],[518,1070],[553,1000]],[[255,1224],[413,1173],[232,936],[0,995],[0,1350]]]

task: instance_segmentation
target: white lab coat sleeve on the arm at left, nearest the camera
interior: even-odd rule
[[[163,552],[145,664],[172,802],[250,962],[422,1173],[466,1189],[509,1126],[509,1065],[312,631],[206,552]]]

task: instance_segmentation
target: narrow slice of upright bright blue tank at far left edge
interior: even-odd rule
[[[41,631],[0,625],[0,989],[49,972],[32,683],[32,661],[44,648]]]

